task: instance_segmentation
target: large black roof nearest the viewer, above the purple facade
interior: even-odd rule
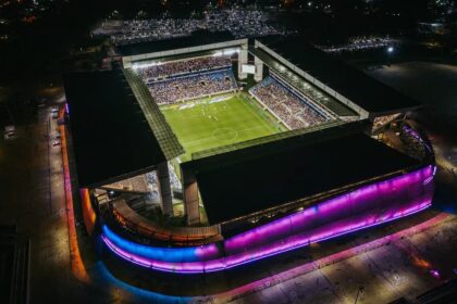
[[[418,165],[357,123],[182,164],[196,174],[210,224]]]

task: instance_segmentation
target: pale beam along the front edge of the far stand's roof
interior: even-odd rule
[[[132,64],[136,61],[144,61],[144,60],[150,60],[150,59],[156,59],[156,58],[201,52],[201,51],[208,51],[208,50],[233,48],[233,47],[239,47],[239,46],[246,46],[247,48],[247,43],[248,43],[247,39],[238,39],[238,40],[233,40],[233,41],[205,45],[205,46],[198,46],[198,47],[192,47],[192,48],[183,48],[183,49],[168,50],[168,51],[161,51],[161,52],[151,52],[151,53],[146,53],[146,54],[123,56],[122,64],[124,68],[129,68],[132,67]]]

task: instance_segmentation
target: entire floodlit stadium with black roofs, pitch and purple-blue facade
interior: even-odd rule
[[[64,79],[76,206],[108,254],[221,271],[432,203],[418,104],[320,50],[206,35],[118,52]],[[383,142],[393,125],[406,149]]]

